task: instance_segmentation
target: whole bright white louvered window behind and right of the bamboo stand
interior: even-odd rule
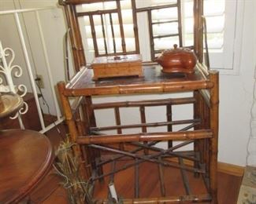
[[[176,4],[180,8],[174,6]],[[165,5],[173,6],[165,8]],[[139,53],[143,55],[144,61],[154,59],[154,56],[157,56],[161,50],[172,48],[173,44],[193,45],[193,0],[136,0],[135,6],[139,27]],[[151,27],[148,24],[149,12],[145,8],[156,8],[150,10]],[[115,1],[81,5],[78,12],[111,9],[117,9]],[[204,0],[204,15],[206,16],[207,38],[210,49],[210,67],[220,69],[223,73],[236,74],[238,70],[237,67],[234,67],[234,64],[239,66],[239,46],[242,35],[242,29],[239,28],[242,27],[243,23],[243,1]],[[98,53],[100,55],[104,54],[106,49],[107,53],[121,53],[122,39],[118,14],[105,13],[102,16],[93,17]],[[110,16],[113,21],[112,26]],[[136,52],[132,0],[121,1],[121,16],[126,51]],[[102,22],[104,22],[103,26]],[[80,27],[81,33],[84,33],[86,38],[83,46],[87,62],[90,63],[95,56],[95,42],[93,42],[91,34],[90,18],[83,16],[83,18],[80,18],[80,23],[82,24],[82,27]],[[152,38],[150,38],[150,32]],[[182,33],[182,36],[180,37],[177,33]],[[116,48],[113,46],[113,34],[115,35],[116,42],[114,44]],[[152,49],[154,49],[154,53]]]

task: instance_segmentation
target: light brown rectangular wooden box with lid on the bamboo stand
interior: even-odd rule
[[[92,62],[94,79],[119,76],[143,75],[142,60],[139,54],[121,56],[99,56]]]

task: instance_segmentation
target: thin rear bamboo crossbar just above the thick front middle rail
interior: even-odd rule
[[[130,129],[130,128],[143,128],[143,127],[158,127],[158,126],[169,126],[169,125],[183,125],[193,122],[200,122],[200,119],[190,119],[190,120],[179,120],[170,122],[150,122],[150,123],[140,123],[132,125],[121,125],[121,126],[106,126],[106,127],[91,127],[91,131],[102,131],[111,129]]]

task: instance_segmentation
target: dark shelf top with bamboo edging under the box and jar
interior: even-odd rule
[[[143,67],[143,77],[93,80],[93,70],[83,67],[66,85],[65,95],[93,96],[129,93],[185,92],[210,89],[213,84],[200,71],[194,74],[165,74],[160,66]]]

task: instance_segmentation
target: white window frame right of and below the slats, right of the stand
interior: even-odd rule
[[[243,41],[244,1],[225,2],[224,48],[221,53],[210,52],[210,68],[223,75],[239,75]]]

